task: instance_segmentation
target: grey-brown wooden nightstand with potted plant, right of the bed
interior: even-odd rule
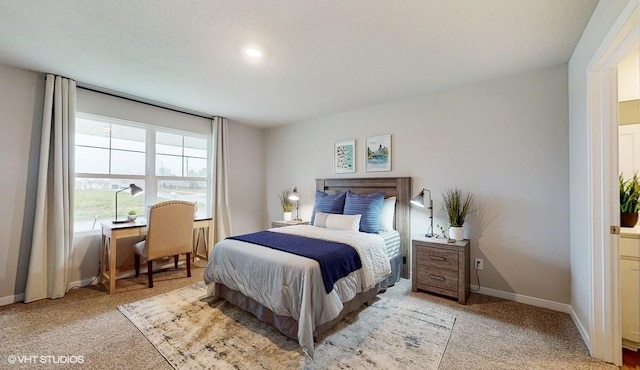
[[[411,290],[418,289],[457,298],[469,296],[469,241],[416,236],[411,240]]]

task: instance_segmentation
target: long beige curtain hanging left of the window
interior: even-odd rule
[[[76,84],[47,75],[40,167],[24,301],[67,292],[73,246]]]

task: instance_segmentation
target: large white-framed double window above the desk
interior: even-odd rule
[[[77,113],[75,230],[99,230],[115,217],[115,193],[134,183],[142,196],[118,193],[118,218],[170,199],[210,209],[210,138],[155,126]]]

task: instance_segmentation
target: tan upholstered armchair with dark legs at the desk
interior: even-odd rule
[[[180,254],[187,255],[187,277],[191,277],[191,251],[195,204],[170,200],[149,207],[147,212],[147,236],[133,246],[136,277],[140,274],[140,257],[147,259],[149,288],[153,288],[153,261],[174,257],[178,268]]]

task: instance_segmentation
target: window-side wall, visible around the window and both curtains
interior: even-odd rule
[[[0,112],[3,113],[0,118],[0,156],[6,159],[0,161],[1,173],[6,175],[0,180],[0,193],[5,194],[4,199],[8,200],[0,207],[0,216],[5,220],[0,223],[0,256],[3,256],[0,258],[0,305],[23,298],[31,249],[43,97],[44,75],[0,65]],[[144,113],[129,105],[135,103],[83,90],[78,92],[78,108],[85,111],[92,108],[91,112],[96,113],[95,109],[100,108],[104,112],[118,114],[125,110]],[[200,119],[202,122],[198,124],[181,116],[184,115],[159,108],[144,113],[144,117],[151,117],[154,122],[160,120],[158,122],[163,126],[179,125],[195,132],[211,132],[209,120]],[[128,116],[128,119],[132,117]],[[257,231],[265,224],[262,191],[265,178],[264,131],[229,122],[229,141],[233,231]],[[90,282],[98,273],[99,261],[100,236],[77,236],[70,283]]]

